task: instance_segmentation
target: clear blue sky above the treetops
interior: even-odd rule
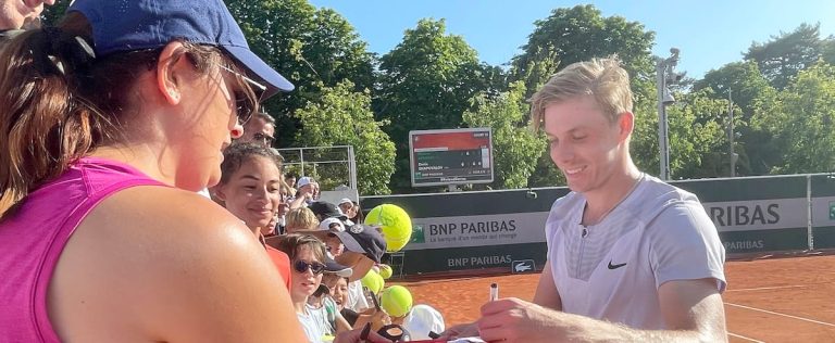
[[[552,9],[576,1],[544,0],[311,0],[336,10],[353,25],[370,50],[384,54],[396,47],[403,30],[420,18],[446,18],[447,30],[460,35],[482,61],[499,65],[519,53],[534,22]],[[668,56],[681,49],[678,71],[700,78],[706,72],[740,61],[752,41],[790,31],[800,23],[820,23],[821,36],[835,35],[835,1],[741,0],[607,0],[591,2],[605,16],[620,15],[656,31],[653,52]]]

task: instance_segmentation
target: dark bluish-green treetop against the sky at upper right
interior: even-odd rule
[[[783,89],[797,73],[814,64],[824,53],[820,28],[820,24],[803,23],[790,33],[771,36],[767,42],[753,42],[745,59],[757,62],[771,85]]]

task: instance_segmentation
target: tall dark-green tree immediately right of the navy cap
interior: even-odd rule
[[[307,0],[227,0],[250,48],[296,85],[292,92],[266,101],[276,118],[279,147],[294,141],[300,123],[292,113],[316,101],[323,87],[351,80],[354,90],[373,88],[374,55],[353,27],[331,9]]]

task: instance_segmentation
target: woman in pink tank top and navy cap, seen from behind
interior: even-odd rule
[[[7,41],[0,342],[303,341],[252,233],[195,193],[291,89],[221,0],[75,1]]]

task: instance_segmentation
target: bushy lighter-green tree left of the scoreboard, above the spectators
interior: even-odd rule
[[[320,101],[310,102],[296,112],[302,124],[296,140],[303,147],[353,145],[360,194],[389,194],[395,144],[381,129],[384,123],[374,120],[369,92],[358,92],[354,88],[348,80],[335,87],[322,87]],[[345,182],[335,180],[339,176],[333,174],[338,173],[332,172],[335,173],[317,170],[324,187]]]

